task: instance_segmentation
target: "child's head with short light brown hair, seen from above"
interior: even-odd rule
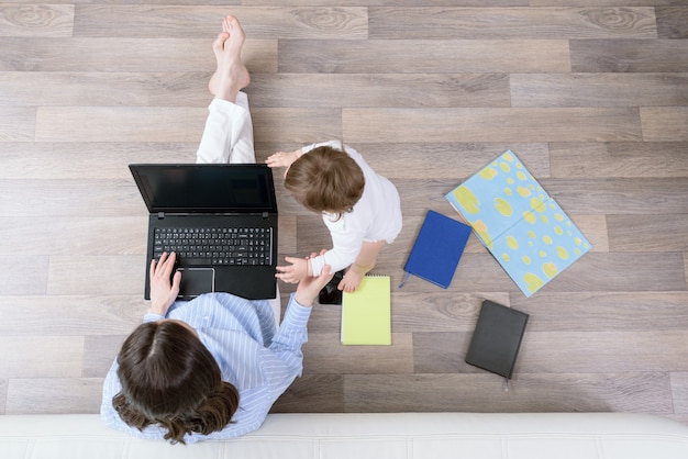
[[[293,161],[285,188],[313,212],[341,215],[351,212],[363,195],[363,170],[346,153],[321,146]]]

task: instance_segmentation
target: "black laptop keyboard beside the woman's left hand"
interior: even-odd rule
[[[155,228],[153,257],[177,254],[185,266],[269,266],[271,228]]]

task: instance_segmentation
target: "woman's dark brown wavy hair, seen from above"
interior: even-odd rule
[[[222,381],[220,367],[198,336],[174,321],[140,325],[118,356],[122,391],[112,405],[126,424],[167,429],[166,440],[185,443],[230,424],[238,391]]]

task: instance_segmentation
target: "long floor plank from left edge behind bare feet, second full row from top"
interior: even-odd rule
[[[253,40],[242,57],[251,71],[275,71],[277,42]],[[0,37],[0,71],[169,72],[215,67],[208,37]]]

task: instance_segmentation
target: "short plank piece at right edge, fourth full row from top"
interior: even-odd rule
[[[688,142],[688,107],[641,108],[641,120],[645,142]]]

